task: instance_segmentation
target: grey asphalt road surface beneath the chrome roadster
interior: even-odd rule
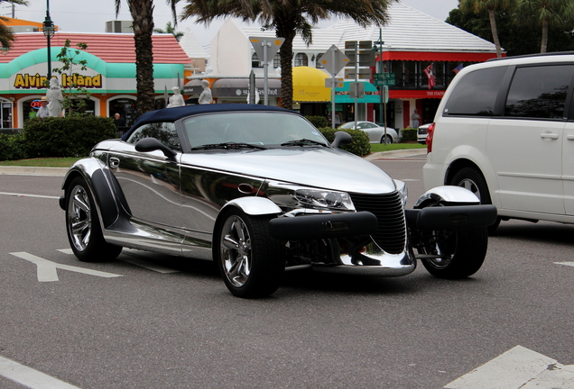
[[[424,156],[373,162],[412,206]],[[297,271],[242,300],[205,261],[79,262],[60,183],[0,175],[0,357],[76,387],[438,389],[516,346],[574,364],[574,226],[503,222],[462,281]]]

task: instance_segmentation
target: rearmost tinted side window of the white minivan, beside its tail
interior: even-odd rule
[[[450,93],[443,114],[492,116],[505,72],[506,67],[496,67],[467,73]]]

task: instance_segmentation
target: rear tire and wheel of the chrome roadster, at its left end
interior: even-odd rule
[[[104,240],[97,217],[96,203],[84,178],[77,176],[66,192],[66,233],[69,246],[83,262],[100,262],[117,258],[121,246]]]

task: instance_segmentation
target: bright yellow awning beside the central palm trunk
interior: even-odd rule
[[[293,68],[293,102],[330,102],[331,88],[325,87],[329,75],[318,68]]]

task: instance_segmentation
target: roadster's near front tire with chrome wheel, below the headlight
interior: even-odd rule
[[[279,241],[269,235],[271,218],[230,208],[214,231],[213,258],[227,289],[236,297],[264,297],[281,283],[285,262]]]

